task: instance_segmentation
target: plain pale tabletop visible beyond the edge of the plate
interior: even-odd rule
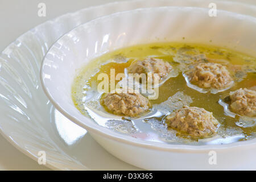
[[[59,15],[117,0],[0,0],[0,51],[36,25]],[[123,1],[123,0],[118,0]],[[157,1],[157,0],[156,0]],[[182,1],[182,0],[177,0]],[[230,0],[252,3],[256,0]],[[46,17],[38,4],[46,4]],[[0,116],[1,119],[1,116]],[[0,135],[0,170],[50,170],[19,152]]]

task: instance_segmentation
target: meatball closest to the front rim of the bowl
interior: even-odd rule
[[[169,114],[166,123],[172,129],[192,138],[210,137],[216,133],[219,125],[217,119],[209,111],[188,106]]]

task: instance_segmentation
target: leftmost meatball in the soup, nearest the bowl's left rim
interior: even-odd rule
[[[150,102],[142,94],[135,93],[132,89],[129,89],[128,92],[124,89],[119,91],[107,93],[102,98],[103,104],[111,113],[135,117],[150,108]]]

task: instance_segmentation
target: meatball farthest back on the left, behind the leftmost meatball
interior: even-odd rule
[[[163,80],[171,71],[172,66],[162,59],[148,58],[144,60],[135,61],[127,68],[128,73],[152,73],[152,82],[154,80]],[[158,73],[158,76],[154,76]]]

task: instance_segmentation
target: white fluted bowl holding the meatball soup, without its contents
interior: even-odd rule
[[[204,43],[256,56],[256,19],[251,16],[195,7],[157,7],[116,13],[82,24],[49,49],[41,81],[52,104],[84,127],[117,158],[145,169],[237,169],[255,164],[256,140],[222,145],[190,146],[144,141],[97,125],[76,109],[71,85],[77,72],[94,57],[114,49],[152,42]],[[185,40],[183,40],[185,37]],[[209,42],[212,40],[211,42]],[[209,151],[217,165],[209,163]]]

